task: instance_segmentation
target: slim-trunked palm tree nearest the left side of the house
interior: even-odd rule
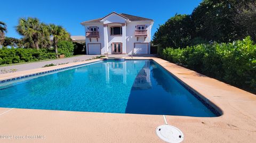
[[[58,41],[59,40],[69,40],[69,33],[62,28],[62,26],[56,26],[55,24],[49,25],[50,35],[53,36],[53,46],[55,48],[56,58],[58,58]]]

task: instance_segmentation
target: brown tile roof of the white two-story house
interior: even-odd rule
[[[107,16],[109,16],[112,13],[115,13],[115,14],[117,14],[119,16],[122,16],[125,19],[129,19],[130,21],[154,21],[152,19],[142,18],[142,17],[139,17],[139,16],[130,15],[130,14],[125,14],[125,13],[118,14],[116,12],[111,12],[108,15],[104,16],[103,18],[84,21],[84,22],[81,22],[81,24],[84,24],[84,23],[100,23],[100,21],[102,19],[106,18]]]

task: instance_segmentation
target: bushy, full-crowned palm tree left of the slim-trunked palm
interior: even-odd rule
[[[21,18],[16,27],[17,32],[31,41],[30,46],[39,50],[39,42],[44,37],[46,25],[37,18]]]

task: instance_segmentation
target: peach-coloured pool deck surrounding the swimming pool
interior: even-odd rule
[[[161,58],[133,59],[154,60],[222,111],[219,117],[167,115],[167,123],[184,133],[184,142],[256,142],[256,95]],[[0,74],[0,81],[95,61],[100,60]],[[155,129],[164,119],[163,115],[0,108],[0,124],[0,142],[163,142]],[[1,138],[4,135],[12,138]],[[40,135],[43,138],[31,139]]]

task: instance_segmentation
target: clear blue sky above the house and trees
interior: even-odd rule
[[[0,21],[7,24],[7,37],[21,38],[14,27],[19,18],[29,16],[45,23],[59,24],[71,35],[85,35],[80,22],[101,18],[115,11],[153,19],[154,34],[159,24],[163,24],[175,13],[191,14],[201,1],[2,1]]]

